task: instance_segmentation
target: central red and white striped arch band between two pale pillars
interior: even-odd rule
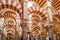
[[[41,16],[42,20],[45,20],[48,17],[46,11],[39,7],[31,6],[30,8],[28,8],[28,13],[29,13],[29,15],[38,14],[39,16]]]

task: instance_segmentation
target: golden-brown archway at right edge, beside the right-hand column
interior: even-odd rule
[[[56,0],[55,0],[56,1]],[[58,6],[58,5],[57,5]],[[56,6],[56,7],[57,7]],[[58,7],[57,7],[58,8]],[[60,13],[56,9],[52,9],[53,13],[53,27],[52,27],[52,32],[53,32],[53,37],[57,38],[60,35]],[[57,36],[57,37],[56,37]],[[53,38],[53,39],[54,39]],[[57,38],[58,39],[58,38]]]

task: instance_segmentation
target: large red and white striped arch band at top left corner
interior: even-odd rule
[[[20,14],[22,13],[21,4],[13,0],[0,0],[0,10],[4,8],[10,8]]]

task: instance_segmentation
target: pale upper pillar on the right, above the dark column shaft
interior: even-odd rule
[[[50,22],[53,22],[53,16],[52,16],[52,11],[51,11],[51,2],[47,0],[47,15],[48,15],[48,25],[50,24]]]

